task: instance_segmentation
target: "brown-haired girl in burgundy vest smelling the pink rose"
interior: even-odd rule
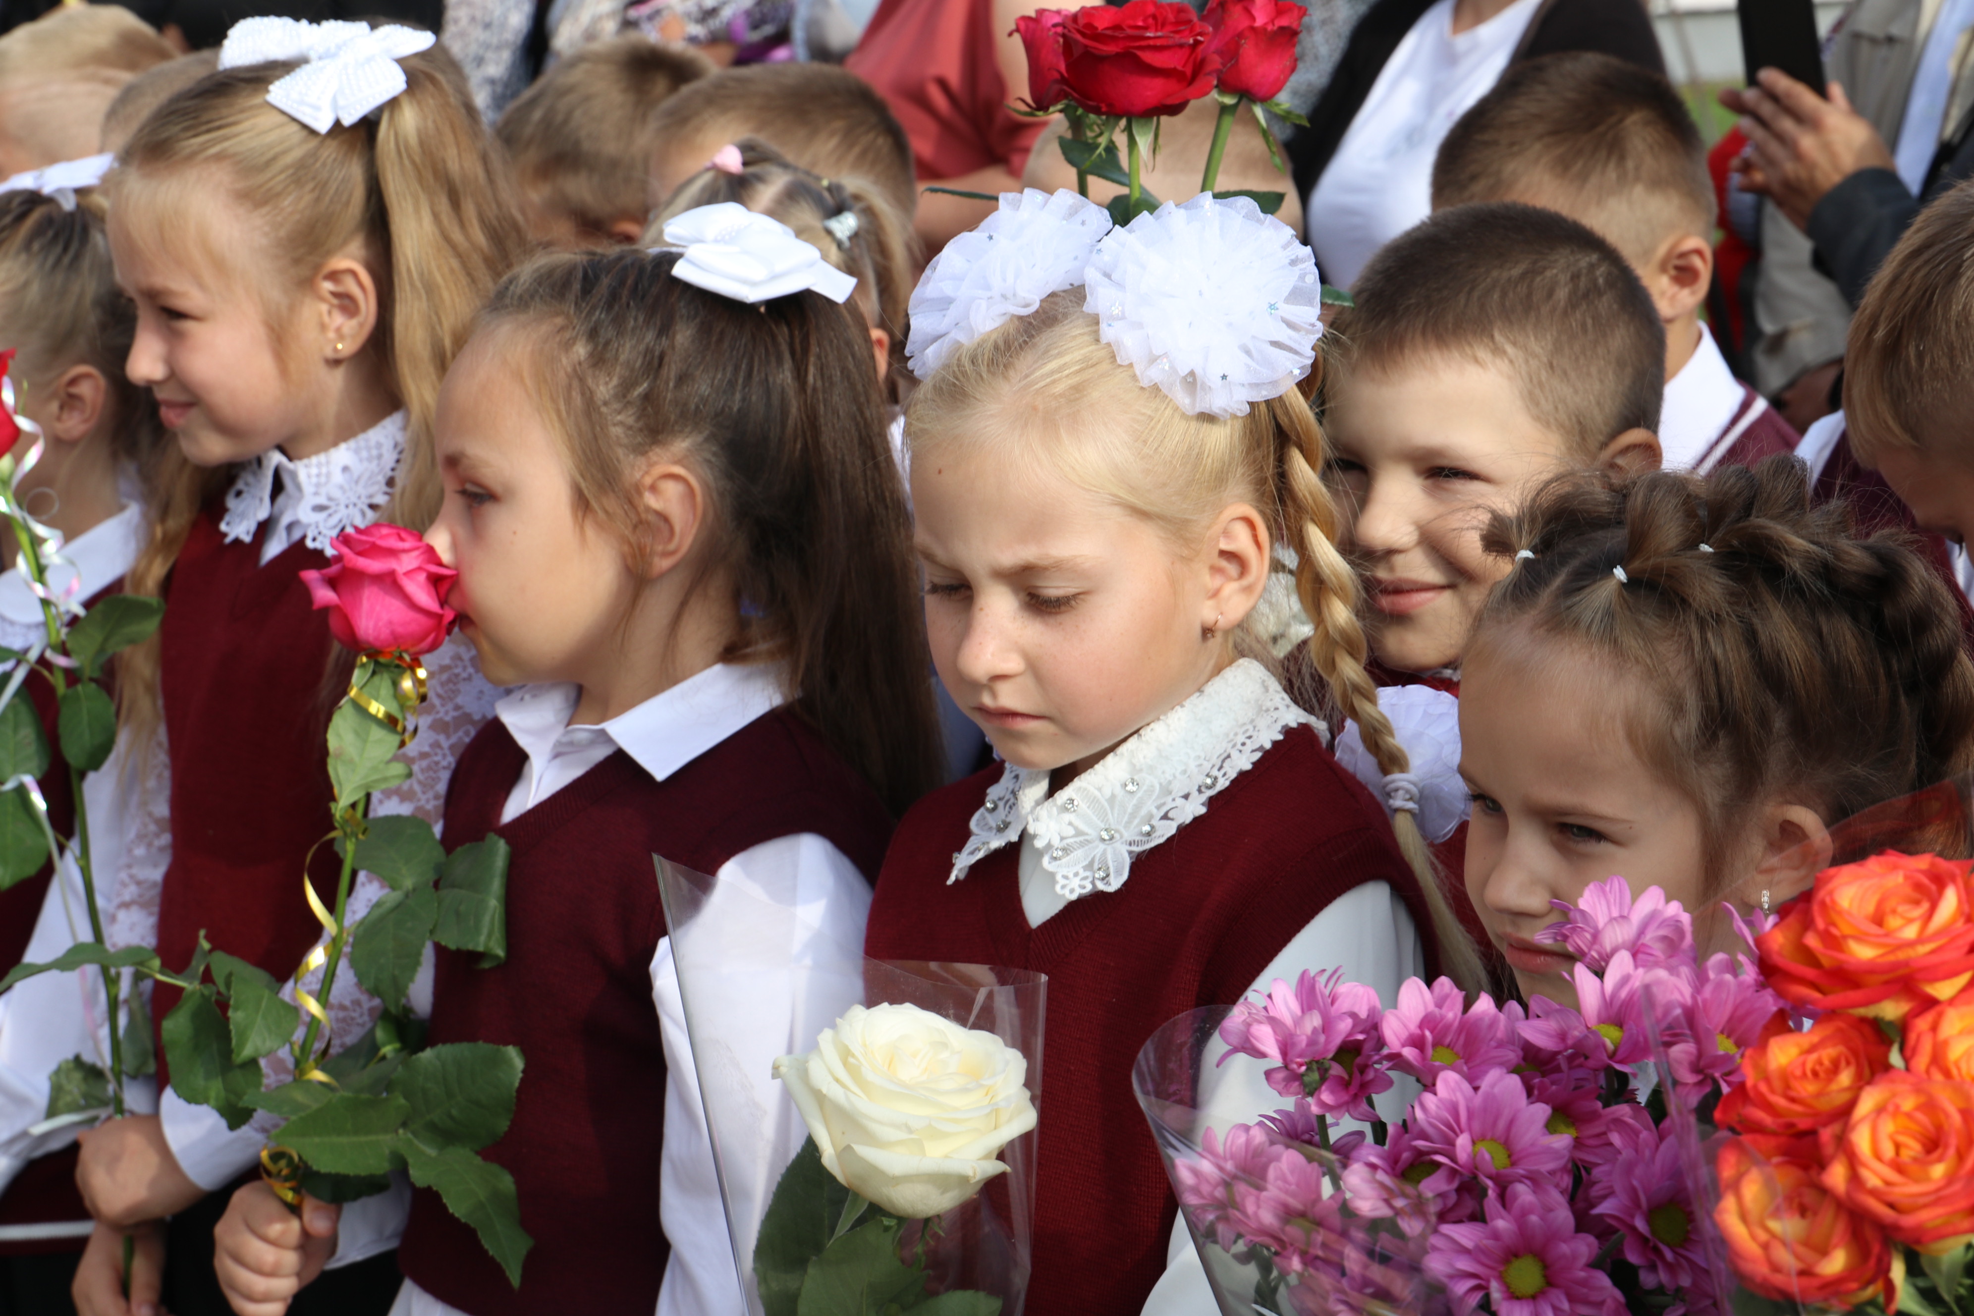
[[[430,1038],[527,1056],[484,1154],[535,1245],[513,1288],[417,1194],[413,1316],[744,1308],[651,854],[801,892],[855,945],[892,819],[936,781],[869,339],[817,292],[847,280],[813,247],[790,270],[797,239],[738,205],[667,235],[717,235],[728,256],[764,243],[756,264],[786,282],[709,276],[697,247],[543,256],[494,296],[440,397],[448,497],[426,537],[460,572],[450,604],[488,677],[521,689],[446,807],[448,837],[513,846],[507,961],[438,951]],[[768,1089],[803,1044],[764,1016],[748,1071]],[[255,1186],[221,1227],[221,1275],[265,1310],[314,1269],[284,1215]]]

